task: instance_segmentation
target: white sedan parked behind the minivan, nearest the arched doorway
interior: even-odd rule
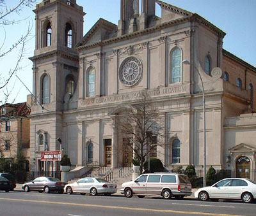
[[[256,182],[247,178],[225,178],[210,187],[198,189],[195,198],[201,201],[242,199],[244,203],[252,203],[256,199]]]

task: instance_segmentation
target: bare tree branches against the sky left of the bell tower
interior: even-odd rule
[[[6,1],[0,0],[0,29],[3,29],[4,38],[1,38],[0,41],[0,61],[3,61],[4,57],[8,54],[19,50],[17,54],[17,60],[12,62],[12,68],[9,71],[3,71],[4,73],[0,73],[0,90],[4,94],[4,98],[0,99],[0,104],[6,103],[8,97],[12,93],[13,87],[8,89],[8,83],[10,83],[11,78],[19,69],[21,69],[20,63],[26,54],[26,43],[31,39],[31,25],[28,24],[28,29],[26,30],[25,34],[22,34],[17,41],[13,41],[10,47],[4,47],[7,40],[7,35],[4,26],[6,25],[18,25],[22,19],[20,20],[13,20],[12,17],[13,13],[20,15],[20,12],[24,7],[31,7],[34,6],[36,0],[19,0],[17,4],[13,7],[8,7]],[[8,74],[8,75],[7,75]]]

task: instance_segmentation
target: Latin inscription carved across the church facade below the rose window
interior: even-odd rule
[[[176,87],[166,87],[164,89],[154,89],[148,90],[148,95],[150,97],[154,96],[164,96],[169,94],[179,94],[186,92],[188,87],[186,85],[179,85]],[[117,94],[114,96],[104,96],[104,97],[93,97],[92,99],[85,99],[81,101],[81,106],[90,106],[102,103],[114,103],[119,101],[129,101],[132,99],[138,99],[140,97],[141,92],[131,92],[127,94]]]

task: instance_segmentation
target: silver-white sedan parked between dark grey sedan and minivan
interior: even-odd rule
[[[116,184],[109,183],[102,178],[81,178],[77,182],[65,185],[64,191],[67,194],[78,192],[82,195],[90,193],[92,196],[96,196],[97,194],[110,196],[111,194],[115,194],[117,189]]]

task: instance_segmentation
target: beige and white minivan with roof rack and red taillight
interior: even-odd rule
[[[176,199],[182,199],[192,194],[188,176],[178,173],[143,174],[131,182],[122,184],[120,192],[127,198],[136,195],[139,198],[162,196],[164,199],[170,199],[174,196]]]

